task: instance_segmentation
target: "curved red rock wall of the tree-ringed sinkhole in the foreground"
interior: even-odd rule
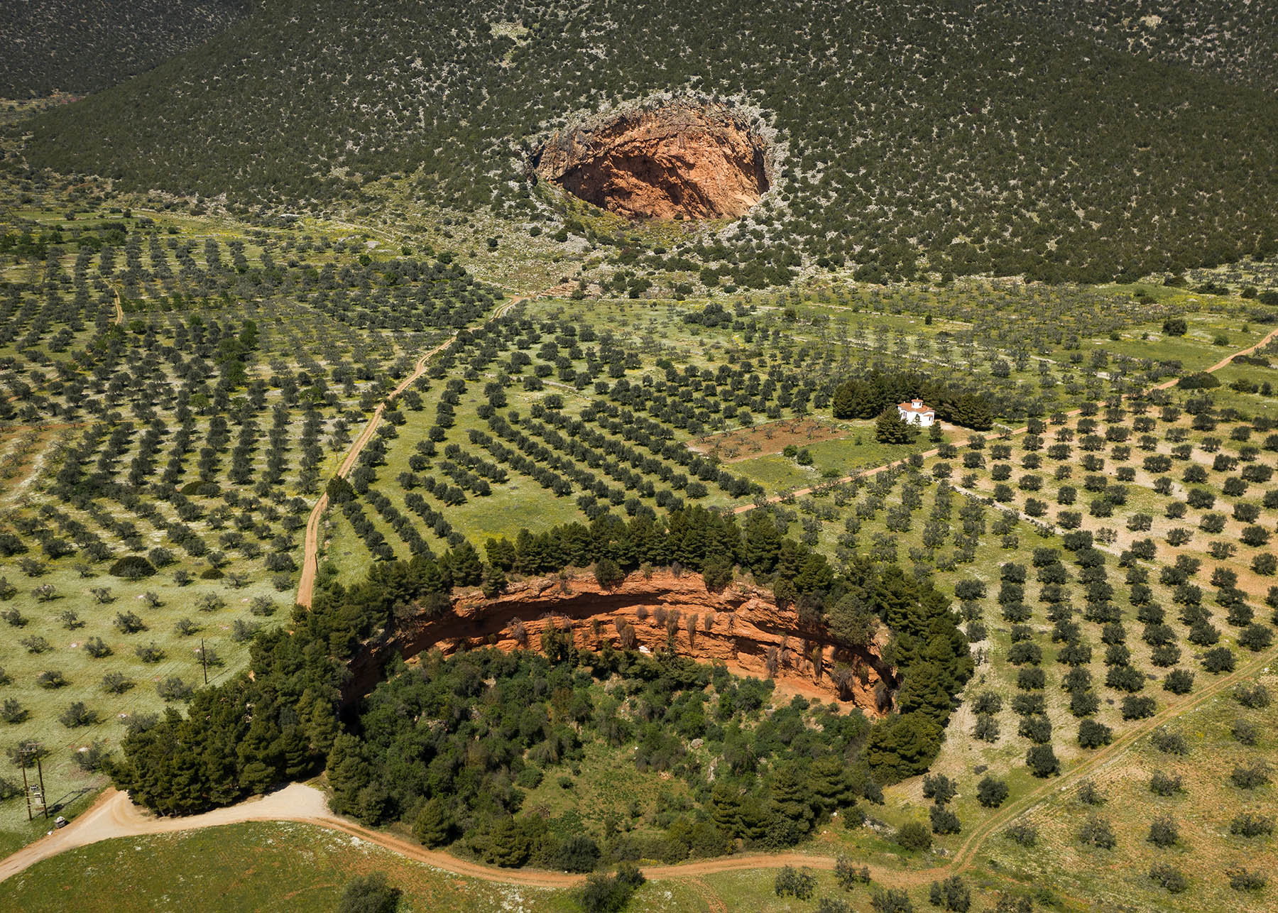
[[[677,621],[671,634],[672,618]],[[689,618],[695,619],[691,634]],[[484,646],[538,650],[542,633],[551,627],[571,630],[576,646],[590,650],[611,643],[656,652],[672,638],[681,656],[721,661],[731,671],[759,678],[771,673],[782,689],[840,699],[869,716],[887,712],[889,689],[896,685],[879,644],[856,652],[836,648],[824,632],[801,630],[797,614],[777,607],[764,589],[734,583],[716,593],[705,589],[699,574],[645,578],[635,573],[613,589],[601,588],[593,575],[576,575],[515,583],[495,600],[468,592],[455,600],[451,614],[419,618],[395,639],[369,644],[351,664],[346,696],[368,693],[395,655],[410,659],[431,648],[454,653]],[[813,662],[817,648],[819,669]],[[842,688],[835,680],[836,662],[852,670]]]

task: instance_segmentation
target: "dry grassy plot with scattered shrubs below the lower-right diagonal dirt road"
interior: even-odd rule
[[[1033,845],[996,836],[982,858],[1089,905],[1273,909],[1278,703],[1258,685],[1278,693],[1266,674],[1176,716],[1019,817]]]

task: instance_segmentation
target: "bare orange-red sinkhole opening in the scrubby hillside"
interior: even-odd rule
[[[767,148],[744,116],[680,102],[557,132],[533,165],[631,219],[739,219],[768,189]]]

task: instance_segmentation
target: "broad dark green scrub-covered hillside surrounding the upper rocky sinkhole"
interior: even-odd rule
[[[1246,36],[1263,36],[1266,14],[1199,60],[1189,38],[1128,50],[1117,26],[1074,28],[1058,13],[966,0],[266,3],[46,113],[27,159],[290,210],[341,211],[390,176],[419,203],[492,207],[514,228],[557,217],[530,169],[552,130],[677,96],[751,113],[774,144],[777,180],[748,219],[681,246],[737,284],[814,266],[869,281],[1105,281],[1272,253],[1278,114],[1270,91],[1227,81],[1252,69],[1268,38]]]

